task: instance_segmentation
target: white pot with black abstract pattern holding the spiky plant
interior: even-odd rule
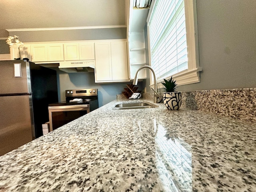
[[[178,110],[181,106],[181,92],[165,92],[163,100],[168,110]]]

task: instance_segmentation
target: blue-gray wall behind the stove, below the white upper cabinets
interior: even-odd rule
[[[99,106],[103,106],[108,102],[116,99],[116,94],[122,94],[126,83],[110,83],[110,84],[98,84],[94,82],[93,72],[78,72],[78,73],[66,73],[57,70],[58,74],[58,93],[59,100],[65,100],[65,90],[68,89],[84,89],[84,88],[97,88]],[[142,90],[145,87],[144,82],[138,82],[138,90]]]

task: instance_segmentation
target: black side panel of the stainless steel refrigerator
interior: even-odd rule
[[[30,62],[34,126],[36,138],[43,135],[42,124],[49,121],[48,104],[58,102],[56,70]]]

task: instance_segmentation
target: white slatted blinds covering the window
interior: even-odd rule
[[[148,27],[157,80],[188,69],[184,0],[155,0]]]

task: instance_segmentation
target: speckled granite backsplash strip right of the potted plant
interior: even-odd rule
[[[256,122],[256,88],[182,92],[183,106]]]

